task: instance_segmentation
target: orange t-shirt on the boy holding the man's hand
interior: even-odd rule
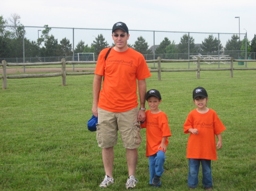
[[[150,109],[146,111],[146,120],[141,124],[141,128],[147,128],[147,146],[146,156],[156,154],[162,148],[158,148],[162,142],[163,137],[170,137],[171,130],[168,124],[166,113],[151,113]],[[168,138],[166,138],[166,146],[168,145]]]

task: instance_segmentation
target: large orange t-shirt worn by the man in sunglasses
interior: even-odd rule
[[[132,48],[101,51],[94,74],[104,75],[98,107],[110,112],[126,112],[138,106],[137,80],[151,77],[143,55]]]

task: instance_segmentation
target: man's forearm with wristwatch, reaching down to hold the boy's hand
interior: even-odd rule
[[[140,108],[145,108],[146,92],[147,92],[146,79],[138,80],[138,89],[139,89]],[[138,121],[145,120],[145,116],[146,116],[145,112],[146,110],[139,109],[138,118],[137,118]]]

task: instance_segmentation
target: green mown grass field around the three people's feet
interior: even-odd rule
[[[187,190],[188,135],[183,123],[195,108],[192,91],[203,86],[208,91],[208,107],[214,109],[226,130],[218,160],[212,162],[214,190],[255,190],[256,170],[256,86],[255,70],[163,72],[147,79],[147,89],[156,88],[167,113],[172,137],[166,153],[162,188]],[[2,83],[2,80],[0,80]],[[101,148],[96,132],[87,130],[92,115],[93,75],[8,79],[0,90],[0,190],[102,190],[104,178]],[[148,186],[146,135],[138,148],[139,161],[135,190],[156,190]],[[119,138],[115,146],[115,184],[105,190],[125,190],[127,166],[125,149]],[[203,190],[200,183],[196,190]]]

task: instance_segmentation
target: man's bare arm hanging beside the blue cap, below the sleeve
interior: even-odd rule
[[[98,97],[101,91],[102,75],[94,75],[93,79],[93,107],[92,113],[95,117],[98,117]]]

